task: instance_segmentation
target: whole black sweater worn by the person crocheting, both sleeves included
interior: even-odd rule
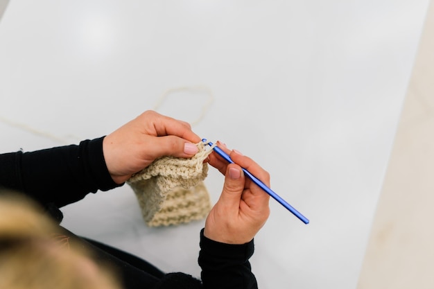
[[[58,208],[77,202],[88,193],[119,186],[107,170],[103,139],[82,141],[78,146],[0,155],[0,186],[25,193],[60,222],[62,213]],[[244,245],[218,243],[206,238],[202,229],[198,258],[202,280],[198,281],[180,272],[166,274],[137,256],[62,229],[91,247],[97,262],[114,265],[127,289],[257,288],[248,261],[254,251],[253,240]]]

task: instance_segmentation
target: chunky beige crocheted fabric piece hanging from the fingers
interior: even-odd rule
[[[160,157],[128,179],[146,225],[179,225],[209,213],[211,202],[203,183],[208,164],[203,161],[212,150],[202,141],[196,146],[198,153],[189,159]]]

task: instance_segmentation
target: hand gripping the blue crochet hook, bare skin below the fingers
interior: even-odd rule
[[[241,152],[229,150],[223,143],[217,145],[233,159],[234,164],[229,164],[214,152],[209,155],[209,164],[225,175],[225,183],[218,202],[209,212],[204,234],[220,243],[248,243],[270,215],[270,195],[263,193],[245,175],[243,168],[257,175],[267,186],[270,186],[270,175]]]

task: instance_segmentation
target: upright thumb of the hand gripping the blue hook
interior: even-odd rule
[[[244,173],[237,164],[229,164],[225,173],[225,184],[220,195],[221,202],[227,206],[239,207],[241,194],[244,190]]]

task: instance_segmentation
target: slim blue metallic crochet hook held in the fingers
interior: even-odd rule
[[[209,146],[213,146],[213,143],[211,143],[211,141],[207,141],[207,139],[202,139],[202,141],[204,143],[207,143]],[[213,150],[217,152],[218,155],[220,155],[220,157],[223,157],[223,159],[225,159],[229,164],[234,164],[234,161],[232,161],[231,157],[229,157],[229,155],[227,155],[227,153],[224,152],[221,148],[219,148],[218,146],[214,146]],[[261,189],[263,189],[263,191],[268,193],[268,195],[270,195],[273,199],[277,200],[277,202],[279,202],[282,206],[288,209],[288,211],[293,213],[297,218],[299,218],[302,222],[304,222],[304,224],[309,224],[309,220],[305,216],[303,216],[299,211],[294,209],[293,206],[288,204],[288,202],[286,202],[279,195],[277,195],[277,193],[272,191],[272,189],[268,188],[266,184],[261,182],[261,180],[255,177],[254,175],[252,175],[252,173],[250,173],[248,170],[246,170],[245,168],[242,169],[244,174],[247,175],[252,180],[252,182],[257,184]]]

